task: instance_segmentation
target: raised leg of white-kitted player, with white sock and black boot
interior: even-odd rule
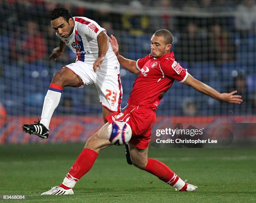
[[[62,89],[65,86],[79,87],[83,81],[72,70],[63,67],[54,77],[49,86],[49,90],[44,98],[44,105],[40,122],[34,124],[24,124],[22,129],[29,134],[38,135],[42,139],[49,136],[49,124],[54,110],[59,105]]]

